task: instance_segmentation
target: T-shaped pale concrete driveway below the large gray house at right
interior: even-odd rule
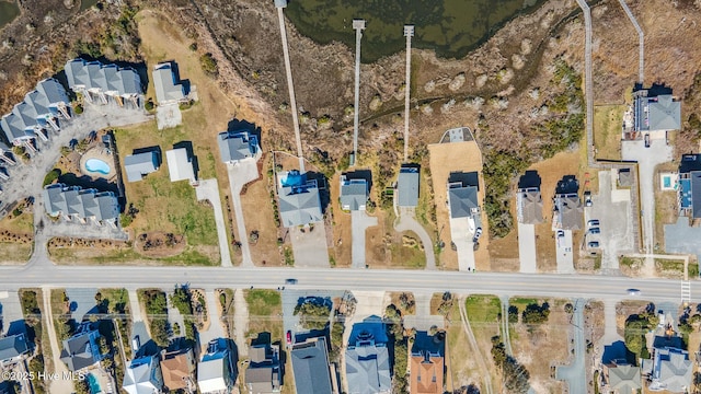
[[[653,176],[655,166],[671,161],[674,149],[665,143],[664,139],[651,140],[650,148],[645,148],[644,141],[621,142],[621,155],[623,160],[637,162],[640,179],[641,215],[643,217],[643,253],[652,254],[655,248],[655,190]],[[654,259],[645,259],[645,268],[654,269]]]

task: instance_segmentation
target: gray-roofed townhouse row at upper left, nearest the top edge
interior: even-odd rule
[[[65,67],[68,86],[73,91],[81,89],[115,92],[118,95],[143,94],[141,79],[133,69],[116,65],[103,65],[100,61],[87,62],[83,59],[69,60]]]

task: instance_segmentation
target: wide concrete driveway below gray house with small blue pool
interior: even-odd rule
[[[289,237],[296,267],[329,268],[326,229],[323,223],[317,223],[313,229],[290,228]]]

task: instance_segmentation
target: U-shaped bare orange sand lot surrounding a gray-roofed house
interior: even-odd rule
[[[474,141],[434,143],[428,146],[430,174],[434,181],[434,198],[436,204],[436,217],[438,231],[446,247],[440,253],[440,263],[447,269],[458,269],[458,255],[450,248],[450,221],[448,212],[447,185],[451,172],[479,173],[480,192],[479,200],[484,201],[484,179],[482,179],[482,153]],[[480,239],[480,250],[475,252],[474,259],[479,270],[489,270],[489,236],[487,219],[482,211],[482,229],[484,236]],[[443,231],[441,231],[443,230]]]

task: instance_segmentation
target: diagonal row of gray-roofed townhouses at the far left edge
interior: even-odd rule
[[[10,141],[34,138],[34,128],[46,128],[47,118],[59,116],[58,104],[68,102],[64,86],[55,79],[45,79],[2,117],[0,127]]]

